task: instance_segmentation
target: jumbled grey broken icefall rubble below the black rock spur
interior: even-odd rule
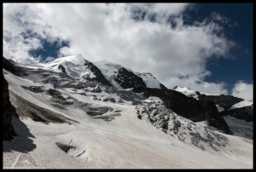
[[[209,101],[207,103],[212,104],[213,102]],[[153,100],[150,104],[151,106],[148,107],[136,107],[137,118],[151,123],[154,127],[186,144],[191,142],[201,150],[205,150],[205,146],[209,146],[218,152],[220,151],[218,147],[226,146],[229,143],[227,137],[214,132],[218,129],[208,127],[205,123],[193,123],[188,119],[177,116],[172,110],[163,106],[160,100]],[[206,106],[204,105],[204,107]]]

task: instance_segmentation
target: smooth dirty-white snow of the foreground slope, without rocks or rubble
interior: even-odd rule
[[[78,65],[75,61],[73,64]],[[51,67],[55,70],[54,65]],[[90,91],[92,88],[59,88],[63,97],[71,97],[73,104],[57,108],[47,91],[34,93],[20,87],[54,89],[51,83],[44,83],[42,73],[23,78],[5,70],[3,73],[11,96],[19,95],[37,106],[79,121],[75,124],[45,124],[31,118],[19,120],[13,117],[12,123],[18,136],[11,141],[3,140],[3,169],[253,169],[253,144],[250,140],[215,131],[227,137],[229,144],[220,146],[220,152],[212,149],[202,151],[138,119],[136,106],[127,100],[117,102],[117,93],[93,93]],[[61,82],[59,75],[51,75]],[[116,102],[100,100],[109,96]],[[148,106],[156,101],[159,100],[149,97],[137,106]],[[102,114],[105,118],[117,114],[116,111],[119,114],[111,121],[94,118],[88,113],[90,106],[112,107],[112,111]],[[181,120],[188,123],[186,119]],[[203,132],[204,125],[203,122],[197,123],[194,129]],[[27,129],[24,130],[24,127]],[[187,130],[183,128],[181,131]],[[73,148],[64,152],[56,143]]]

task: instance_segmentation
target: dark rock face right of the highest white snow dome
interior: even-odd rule
[[[90,81],[97,81],[99,83],[102,83],[103,85],[108,85],[113,87],[111,83],[108,82],[108,80],[103,76],[101,70],[99,70],[95,65],[93,65],[90,61],[85,60],[84,66],[87,66],[91,72],[95,74],[96,77],[93,78],[87,78]]]

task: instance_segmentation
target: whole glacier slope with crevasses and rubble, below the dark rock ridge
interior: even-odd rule
[[[75,71],[72,63],[61,65]],[[252,169],[251,140],[183,118],[159,97],[75,79],[83,75],[55,65],[3,69],[19,116],[17,136],[3,141],[4,169]]]

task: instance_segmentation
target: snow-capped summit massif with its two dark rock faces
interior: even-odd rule
[[[42,66],[45,70],[64,72],[73,79],[96,80],[102,84],[113,86],[116,89],[134,87],[166,89],[150,73],[133,72],[129,68],[108,60],[90,62],[85,60],[80,54],[58,58]]]

